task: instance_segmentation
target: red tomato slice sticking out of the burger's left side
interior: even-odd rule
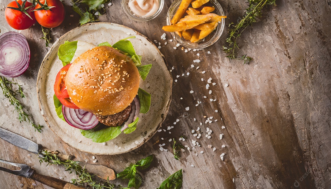
[[[64,82],[66,79],[67,71],[69,70],[70,66],[71,66],[71,64],[66,65],[56,75],[55,84],[54,84],[54,92],[55,92],[56,97],[58,97],[58,99],[64,106],[66,106],[68,108],[72,108],[72,109],[79,109],[70,99],[66,84]]]

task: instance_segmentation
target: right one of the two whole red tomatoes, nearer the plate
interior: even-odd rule
[[[39,2],[34,9],[34,16],[40,25],[51,28],[62,24],[66,13],[60,0],[40,0]]]

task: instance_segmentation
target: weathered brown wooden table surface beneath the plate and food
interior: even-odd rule
[[[11,0],[1,0],[0,29],[3,34],[12,30],[4,19],[5,6]],[[52,29],[54,40],[77,27],[78,15],[65,0],[66,19]],[[244,13],[244,1],[223,0],[226,25],[237,22]],[[143,171],[141,188],[156,188],[170,174],[183,169],[183,188],[331,188],[331,2],[321,1],[276,1],[276,7],[263,11],[262,19],[249,27],[241,36],[240,46],[254,60],[249,65],[225,57],[222,45],[226,30],[213,46],[185,53],[173,49],[171,35],[167,33],[167,45],[161,39],[166,24],[166,11],[171,1],[156,19],[135,22],[127,18],[120,1],[106,5],[107,13],[100,16],[102,22],[113,22],[129,26],[151,41],[161,42],[160,51],[165,55],[168,69],[177,79],[173,82],[172,102],[162,129],[140,148],[121,155],[96,156],[98,164],[122,171],[150,154],[156,161]],[[74,15],[70,17],[70,15]],[[42,133],[34,132],[27,123],[20,123],[14,108],[0,94],[0,126],[11,128],[30,140],[51,150],[72,154],[77,160],[92,163],[93,154],[83,153],[64,144],[46,126],[39,111],[36,97],[37,73],[49,48],[45,48],[39,25],[21,31],[31,47],[29,69],[15,78],[23,85],[26,98],[23,103],[36,123],[45,126]],[[210,51],[211,54],[208,53]],[[200,56],[197,55],[200,54]],[[193,60],[199,59],[200,63]],[[191,65],[194,68],[191,68]],[[200,68],[196,70],[196,67]],[[206,73],[202,73],[206,71]],[[187,72],[190,74],[187,75]],[[182,74],[184,73],[184,76]],[[177,75],[180,75],[177,78]],[[204,79],[202,81],[202,78]],[[208,79],[210,88],[206,89]],[[191,94],[190,91],[194,92]],[[209,94],[209,90],[212,93]],[[204,98],[206,96],[206,98]],[[211,102],[210,99],[216,99]],[[196,106],[197,101],[202,103]],[[189,111],[185,108],[190,107]],[[215,112],[218,110],[218,112]],[[212,123],[205,124],[208,117]],[[179,119],[177,124],[173,124]],[[218,121],[214,122],[217,119]],[[200,126],[202,122],[202,126]],[[194,137],[192,129],[200,126],[203,136]],[[222,126],[225,126],[222,129]],[[206,128],[213,130],[211,138],[205,137]],[[219,139],[220,134],[223,139]],[[170,138],[185,135],[182,142],[191,148],[182,153],[182,159],[173,158]],[[164,138],[164,140],[161,140]],[[192,150],[191,140],[201,147]],[[159,150],[165,143],[167,152]],[[213,151],[208,145],[212,145]],[[225,145],[224,148],[221,146]],[[41,174],[61,177],[65,181],[75,178],[74,174],[56,165],[40,165],[35,155],[0,140],[0,159],[25,163]],[[201,154],[200,152],[204,153]],[[224,161],[220,154],[225,153]],[[30,156],[30,155],[31,156]],[[192,167],[191,165],[194,165]],[[0,171],[0,188],[50,188],[31,179]],[[115,180],[114,183],[127,183]],[[23,184],[23,186],[22,186]]]

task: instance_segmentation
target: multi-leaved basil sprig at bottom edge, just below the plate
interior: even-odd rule
[[[148,168],[151,165],[153,158],[154,156],[150,155],[145,159],[138,161],[136,164],[130,164],[122,172],[117,174],[117,178],[129,179],[127,188],[134,187],[135,189],[138,189],[142,182],[142,176],[138,170]]]

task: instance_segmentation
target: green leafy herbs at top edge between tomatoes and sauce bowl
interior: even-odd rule
[[[71,0],[72,9],[79,14],[79,24],[93,23],[99,21],[98,16],[105,13],[105,3],[111,0]],[[81,8],[83,5],[83,8]]]

